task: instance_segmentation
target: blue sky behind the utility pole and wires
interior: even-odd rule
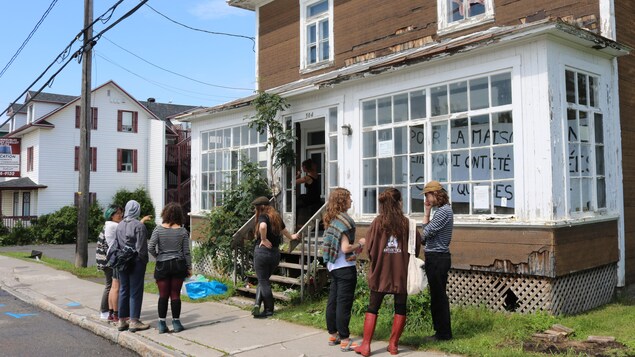
[[[3,1],[0,71],[54,1]],[[116,2],[94,0],[94,18]],[[123,1],[109,22],[95,25],[94,33],[108,27],[138,3]],[[150,0],[147,5],[193,28],[255,36],[255,14],[231,7],[225,0]],[[0,76],[0,112],[29,88],[80,32],[83,12],[82,0],[55,3],[21,53]],[[73,46],[73,51],[79,44]],[[144,5],[97,42],[93,51],[92,87],[113,80],[138,100],[153,97],[162,103],[213,106],[253,92],[254,62],[252,40],[187,29]],[[60,63],[53,65],[30,90],[38,90],[60,67]],[[43,91],[79,96],[81,64],[71,61],[55,77],[52,86]],[[19,102],[23,99],[21,97]],[[6,117],[0,119],[4,121]]]

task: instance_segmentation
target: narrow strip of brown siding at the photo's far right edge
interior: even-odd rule
[[[635,48],[635,2],[615,1],[617,41]],[[635,283],[635,54],[618,59],[626,284]]]

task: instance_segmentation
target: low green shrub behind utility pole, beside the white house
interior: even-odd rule
[[[103,211],[93,203],[88,211],[88,241],[95,242],[104,224]],[[75,243],[77,237],[77,207],[64,206],[38,217],[32,226],[37,241],[49,244]]]

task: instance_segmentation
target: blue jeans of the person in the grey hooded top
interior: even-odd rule
[[[134,266],[119,272],[119,318],[139,319],[147,262],[137,258]]]

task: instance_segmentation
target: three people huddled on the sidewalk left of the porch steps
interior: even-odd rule
[[[180,291],[183,281],[192,274],[189,233],[183,227],[183,210],[177,203],[168,203],[161,212],[162,223],[152,231],[149,240],[144,223],[152,216],[139,219],[140,215],[141,206],[135,200],[128,201],[125,209],[111,205],[104,212],[106,223],[98,238],[96,252],[97,266],[106,277],[100,317],[116,324],[119,331],[136,332],[150,327],[140,319],[150,254],[156,259],[154,278],[159,289],[159,333],[169,332],[166,324],[168,301],[173,331],[183,331]],[[122,259],[127,260],[125,265],[120,264]]]

